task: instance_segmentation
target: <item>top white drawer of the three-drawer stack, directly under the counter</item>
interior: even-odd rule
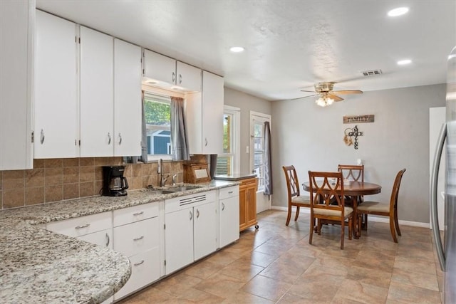
[[[114,210],[113,226],[122,226],[134,223],[135,221],[142,221],[143,219],[150,219],[151,217],[158,216],[158,205],[158,202],[154,202],[151,204]]]

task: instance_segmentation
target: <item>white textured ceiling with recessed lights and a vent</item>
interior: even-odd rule
[[[446,82],[456,46],[456,1],[36,0],[38,9],[224,76],[225,86],[266,100],[335,90]],[[410,11],[395,18],[398,6]],[[243,53],[230,53],[244,46]],[[396,61],[413,63],[399,66]],[[382,75],[364,77],[364,70]],[[349,98],[349,97],[348,97]]]

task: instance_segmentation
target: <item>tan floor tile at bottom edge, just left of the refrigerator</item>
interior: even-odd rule
[[[393,302],[394,301],[394,302]],[[438,291],[392,281],[387,303],[440,303]]]

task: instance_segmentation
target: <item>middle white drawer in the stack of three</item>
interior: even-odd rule
[[[145,219],[114,228],[114,250],[134,256],[160,245],[158,218]]]

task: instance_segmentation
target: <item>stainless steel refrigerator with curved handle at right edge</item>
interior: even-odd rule
[[[456,303],[456,47],[448,56],[446,123],[440,130],[430,182],[432,236],[440,267],[445,271],[445,303]],[[443,149],[446,140],[446,148]],[[442,236],[437,217],[437,177],[445,154],[445,224]]]

